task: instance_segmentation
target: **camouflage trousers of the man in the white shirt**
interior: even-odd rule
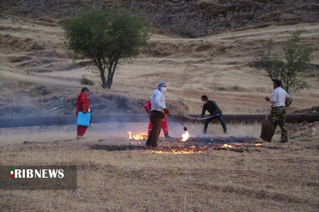
[[[273,107],[271,109],[270,121],[272,124],[272,137],[275,135],[277,125],[279,125],[281,129],[281,141],[288,141],[288,126],[286,118],[286,107]]]

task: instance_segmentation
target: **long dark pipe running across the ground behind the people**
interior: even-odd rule
[[[174,118],[182,122],[199,122],[188,119],[181,115],[172,115]],[[198,114],[189,114],[192,117],[198,117]],[[259,122],[265,119],[263,114],[226,114],[223,115],[227,123],[230,122]],[[270,117],[270,116],[268,116]],[[177,122],[173,118],[167,116],[168,122]],[[287,114],[288,123],[319,121],[319,114]],[[95,114],[92,123],[148,123],[149,117],[146,114]],[[205,120],[201,120],[205,122]],[[0,128],[12,127],[32,127],[32,126],[50,126],[50,125],[75,125],[75,115],[64,116],[32,116],[32,117],[6,117],[0,118]]]

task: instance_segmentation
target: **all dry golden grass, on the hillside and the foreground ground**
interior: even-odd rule
[[[96,83],[90,87],[91,97],[114,94],[129,97],[131,102],[148,99],[157,83],[165,80],[166,102],[174,105],[174,113],[200,113],[203,94],[216,100],[224,114],[264,113],[265,87],[271,91],[271,81],[249,64],[267,39],[281,44],[296,28],[305,28],[305,43],[315,48],[312,63],[319,65],[318,23],[243,28],[199,39],[155,34],[143,57],[121,64],[111,90]],[[53,19],[0,18],[1,106],[41,100],[41,95],[26,93],[40,85],[50,95],[68,99],[81,89],[82,75],[97,82],[98,77],[81,65],[86,61],[74,63],[66,54],[62,36]],[[318,79],[318,70],[309,73],[311,89],[291,93],[290,112],[319,105]],[[258,123],[227,127],[227,136],[260,135]],[[173,137],[183,133],[178,124],[169,128]],[[203,126],[188,124],[187,128],[196,137]],[[295,137],[284,144],[278,143],[280,135],[276,134],[274,142],[244,152],[226,148],[173,154],[90,148],[93,144],[129,144],[127,131],[137,134],[146,129],[147,123],[93,124],[85,141],[76,141],[75,126],[0,129],[1,165],[78,167],[76,190],[2,190],[0,211],[319,211],[318,134],[291,132]],[[210,125],[208,130],[209,137],[224,136],[220,125]]]

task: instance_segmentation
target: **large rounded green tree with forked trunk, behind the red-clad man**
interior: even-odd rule
[[[68,49],[79,59],[89,58],[103,88],[111,88],[120,62],[140,55],[150,38],[149,22],[129,9],[90,9],[62,21]]]

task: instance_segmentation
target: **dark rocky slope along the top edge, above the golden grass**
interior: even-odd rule
[[[57,19],[90,7],[113,2],[143,12],[166,33],[203,37],[240,27],[265,27],[319,20],[317,0],[10,0],[2,1],[3,14]]]

